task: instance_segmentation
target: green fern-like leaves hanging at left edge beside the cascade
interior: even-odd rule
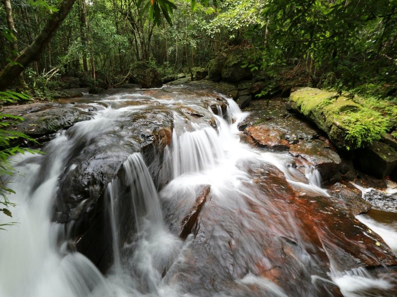
[[[17,100],[28,100],[29,97],[22,93],[16,93],[13,91],[0,92],[0,104],[3,103],[14,103]],[[8,127],[19,123],[23,118],[20,116],[15,116],[12,114],[5,114],[0,112],[0,211],[12,217],[10,207],[15,206],[8,200],[7,195],[9,193],[15,193],[12,189],[8,188],[6,185],[7,179],[14,174],[14,169],[12,167],[9,158],[17,153],[24,152],[34,152],[34,150],[27,148],[19,148],[15,146],[14,143],[17,139],[26,139],[30,141],[35,141],[34,139],[24,135],[23,133],[9,130]],[[12,223],[0,224],[0,229],[7,225],[13,225]]]

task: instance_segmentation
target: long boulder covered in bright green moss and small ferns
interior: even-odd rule
[[[390,128],[388,119],[336,93],[301,88],[291,93],[287,108],[300,112],[326,132],[337,148],[360,148],[379,140]]]

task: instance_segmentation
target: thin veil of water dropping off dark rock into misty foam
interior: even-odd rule
[[[115,267],[108,280],[116,296],[157,295],[164,290],[162,275],[175,260],[181,241],[165,227],[157,191],[141,154],[131,154],[123,168],[124,181],[117,178],[108,186],[110,204],[116,205],[111,207]],[[121,212],[131,212],[134,218],[128,228],[132,235],[123,245],[120,229],[126,226],[118,222]]]

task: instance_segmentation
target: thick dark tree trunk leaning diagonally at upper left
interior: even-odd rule
[[[43,49],[50,43],[55,32],[62,24],[75,0],[62,0],[58,12],[53,13],[34,42],[25,48],[13,61],[5,65],[0,72],[0,90],[4,90],[13,80],[35,59],[38,59]]]

